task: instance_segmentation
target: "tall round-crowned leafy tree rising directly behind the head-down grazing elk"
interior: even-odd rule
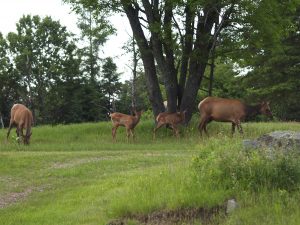
[[[37,122],[42,122],[47,117],[47,92],[63,79],[67,48],[74,46],[72,36],[50,17],[23,16],[17,23],[17,32],[9,33],[7,40],[14,73],[24,87],[22,99],[33,110]]]

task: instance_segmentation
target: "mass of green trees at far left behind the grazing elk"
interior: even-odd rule
[[[0,35],[0,55],[0,111],[6,126],[16,102],[33,111],[35,124],[107,119],[99,79],[86,76],[82,50],[58,21],[23,16],[16,33]]]

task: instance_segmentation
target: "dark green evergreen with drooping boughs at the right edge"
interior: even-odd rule
[[[283,120],[300,120],[300,7],[293,19],[293,29],[283,38],[280,48],[266,48],[265,53],[248,60],[253,70],[243,80],[247,98],[270,100],[274,115]]]

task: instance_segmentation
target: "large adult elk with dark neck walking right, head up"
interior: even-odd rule
[[[272,117],[268,102],[262,102],[258,105],[250,106],[236,99],[207,97],[199,103],[198,109],[201,116],[198,129],[201,135],[204,130],[207,136],[208,133],[206,126],[213,120],[218,122],[231,122],[231,133],[233,135],[235,132],[235,126],[237,126],[239,132],[243,134],[241,121],[246,118],[253,117],[258,114],[264,114]]]

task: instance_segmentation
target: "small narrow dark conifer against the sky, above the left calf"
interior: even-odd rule
[[[119,82],[120,74],[117,73],[117,65],[111,57],[104,60],[102,66],[101,89],[106,96],[105,107],[115,111],[115,97],[119,93],[121,83]]]

